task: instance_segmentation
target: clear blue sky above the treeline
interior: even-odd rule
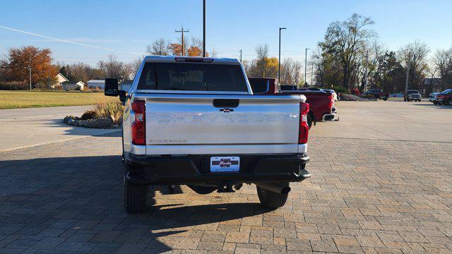
[[[315,48],[328,24],[352,13],[370,16],[379,40],[397,50],[413,40],[432,52],[452,46],[452,1],[276,1],[207,0],[207,49],[218,56],[254,57],[254,47],[268,44],[278,56],[304,60],[304,48]],[[202,38],[202,0],[153,1],[1,1],[0,25],[49,37],[126,52],[145,52],[155,39],[176,40],[181,25],[189,37]],[[95,65],[111,52],[56,42],[0,28],[0,55],[10,47],[49,47],[54,59]],[[135,54],[117,53],[121,61]]]

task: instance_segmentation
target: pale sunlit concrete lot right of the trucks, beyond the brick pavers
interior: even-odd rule
[[[432,102],[336,102],[339,121],[317,123],[316,137],[452,142],[452,107]]]

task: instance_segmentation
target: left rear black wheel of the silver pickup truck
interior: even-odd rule
[[[126,162],[126,168],[127,168]],[[127,174],[127,169],[126,169]],[[140,213],[146,208],[146,198],[148,195],[148,186],[131,183],[124,174],[124,207],[126,212]]]

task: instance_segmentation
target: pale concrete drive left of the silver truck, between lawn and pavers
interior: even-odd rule
[[[0,151],[117,131],[78,128],[61,123],[64,116],[81,116],[91,108],[93,106],[2,109]]]

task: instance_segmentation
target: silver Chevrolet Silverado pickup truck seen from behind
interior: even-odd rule
[[[253,95],[237,59],[147,56],[131,89],[105,80],[124,103],[127,212],[143,212],[151,185],[184,184],[207,194],[257,186],[281,207],[290,182],[308,178],[304,95]]]

